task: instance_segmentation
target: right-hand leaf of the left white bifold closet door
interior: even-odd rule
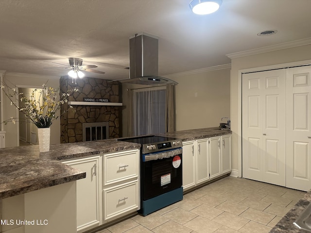
[[[285,71],[266,71],[263,110],[263,181],[285,186]]]

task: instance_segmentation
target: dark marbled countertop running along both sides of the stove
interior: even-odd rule
[[[222,131],[219,127],[213,127],[157,135],[189,141],[227,133],[231,131]],[[67,166],[61,163],[62,160],[139,148],[139,144],[106,139],[51,145],[50,151],[41,153],[38,145],[0,149],[0,198],[86,177],[86,172]]]

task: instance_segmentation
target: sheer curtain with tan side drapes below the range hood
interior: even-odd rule
[[[175,131],[175,85],[128,89],[128,136]]]

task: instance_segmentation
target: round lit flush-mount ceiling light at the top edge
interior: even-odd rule
[[[222,0],[192,0],[189,7],[194,14],[207,15],[217,11],[222,3]]]

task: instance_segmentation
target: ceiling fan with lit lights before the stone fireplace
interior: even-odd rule
[[[68,75],[72,78],[72,83],[73,83],[73,79],[75,79],[75,83],[77,83],[76,79],[78,77],[83,78],[85,76],[85,74],[82,72],[82,70],[86,71],[86,72],[92,72],[92,73],[98,73],[98,74],[104,74],[105,73],[105,72],[100,71],[100,70],[92,69],[92,68],[97,67],[95,65],[84,65],[83,66],[82,62],[83,62],[83,59],[81,59],[81,58],[69,57],[69,66],[65,65],[65,64],[53,62],[55,64],[66,66],[66,67],[45,67],[45,68],[66,68],[66,69],[70,69],[68,72]]]

